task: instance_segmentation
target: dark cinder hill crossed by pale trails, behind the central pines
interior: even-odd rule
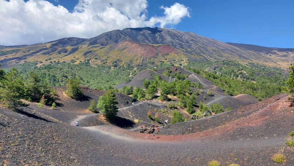
[[[186,79],[189,79],[191,82],[194,83],[201,83],[203,86],[203,89],[198,89],[198,88],[191,88],[193,91],[202,91],[203,93],[200,93],[199,96],[197,97],[196,101],[197,103],[199,102],[204,102],[207,105],[210,104],[215,104],[217,102],[220,102],[224,108],[230,106],[232,109],[239,108],[240,105],[246,106],[248,104],[256,103],[258,102],[257,98],[251,95],[246,95],[246,94],[239,94],[237,96],[230,96],[224,93],[223,90],[221,90],[220,87],[217,87],[214,85],[211,81],[208,79],[202,77],[201,75],[198,75],[196,73],[192,73],[190,71],[187,71],[183,68],[180,67],[169,67],[172,71],[172,74],[175,72],[179,72],[183,75],[187,74],[188,77]],[[159,69],[157,71],[152,71],[150,69],[143,70],[139,72],[137,75],[134,76],[128,83],[121,83],[117,85],[115,88],[121,89],[124,86],[133,86],[133,87],[143,87],[143,80],[144,79],[150,79],[154,80],[155,75],[160,75],[160,78],[162,80],[166,79],[169,83],[175,80],[175,78],[163,75],[164,71],[166,68]],[[214,93],[213,96],[209,96],[207,94],[208,91],[212,91]],[[203,99],[205,98],[205,99]]]

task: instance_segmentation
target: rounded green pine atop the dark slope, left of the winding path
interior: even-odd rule
[[[79,99],[83,95],[79,79],[69,79],[66,84],[66,95],[73,99]]]

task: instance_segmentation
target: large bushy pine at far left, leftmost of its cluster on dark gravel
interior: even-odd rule
[[[24,82],[16,68],[6,73],[0,83],[0,98],[3,106],[16,110],[20,99],[24,94]]]

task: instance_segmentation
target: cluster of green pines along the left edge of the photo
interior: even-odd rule
[[[34,72],[29,73],[28,79],[24,81],[16,68],[12,68],[8,72],[0,70],[0,101],[2,106],[16,110],[17,106],[24,104],[21,99],[52,104],[55,101],[55,91]]]

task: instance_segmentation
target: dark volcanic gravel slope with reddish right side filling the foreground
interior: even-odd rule
[[[17,113],[0,107],[0,160],[9,165],[207,165],[209,160],[222,165],[293,165],[293,148],[285,146],[294,118],[288,97],[281,94],[220,118],[193,121],[199,129],[186,124],[191,126],[183,130],[198,133],[171,136],[111,125],[75,127],[61,122],[63,111],[51,110],[56,114],[51,118],[38,108]],[[82,115],[67,113],[73,118]],[[162,132],[176,130],[182,132],[176,125]],[[285,164],[271,160],[280,150],[287,157]]]

